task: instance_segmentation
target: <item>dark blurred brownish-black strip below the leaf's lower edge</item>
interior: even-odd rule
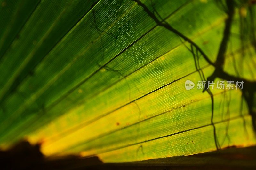
[[[104,164],[98,157],[44,157],[40,152],[40,145],[23,141],[8,151],[0,151],[0,169],[256,169],[256,146],[230,147],[190,156]]]

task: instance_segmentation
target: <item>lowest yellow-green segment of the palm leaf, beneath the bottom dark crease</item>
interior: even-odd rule
[[[217,136],[225,139],[222,147],[235,145],[245,147],[256,144],[252,129],[251,118],[245,118],[248,134],[244,133],[242,118],[234,119],[229,124],[229,140],[226,134],[225,123],[217,123]],[[131,162],[154,158],[172,157],[178,155],[191,155],[216,150],[211,125],[190,130],[188,132],[128,146],[114,151],[98,154],[103,162]]]

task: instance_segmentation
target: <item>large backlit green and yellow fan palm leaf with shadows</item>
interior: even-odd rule
[[[251,2],[1,4],[3,148],[25,138],[46,155],[124,162],[256,143]],[[244,89],[184,87],[212,77]]]

